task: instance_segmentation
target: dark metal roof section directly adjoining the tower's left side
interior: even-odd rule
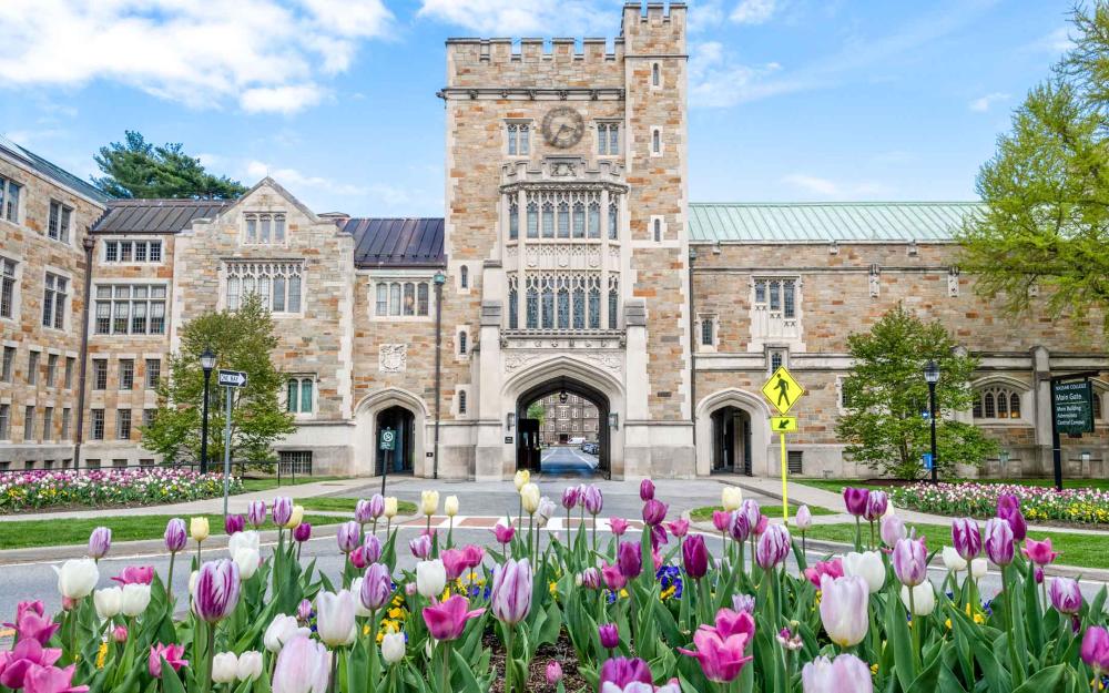
[[[354,236],[358,267],[441,267],[441,218],[343,218],[339,228]]]

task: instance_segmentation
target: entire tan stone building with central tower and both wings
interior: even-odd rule
[[[628,4],[611,43],[448,41],[444,218],[319,214],[269,179],[228,203],[105,201],[0,150],[0,177],[24,186],[14,218],[0,215],[14,272],[0,466],[156,461],[138,428],[182,326],[260,293],[297,424],[277,449],[299,470],[502,479],[529,459],[525,440],[561,434],[528,406],[567,393],[593,405],[613,477],[775,475],[759,390],[786,365],[808,391],[791,470],[867,476],[834,434],[846,338],[902,303],[981,357],[977,404],[954,416],[1000,440],[986,472],[1049,471],[1048,378],[1109,370],[1097,329],[1011,322],[975,294],[952,243],[974,203],[689,202],[685,13]],[[65,243],[53,202],[71,210]],[[50,275],[67,279],[61,329],[42,325]],[[30,380],[35,349],[43,374],[51,354],[55,368],[74,358],[87,387]],[[1064,440],[1068,475],[1106,472],[1109,380],[1095,387],[1097,432]],[[68,408],[73,429],[58,445],[26,436],[32,406],[54,409],[52,427]]]

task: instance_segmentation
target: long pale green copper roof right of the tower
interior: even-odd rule
[[[977,202],[690,203],[690,241],[950,241]]]

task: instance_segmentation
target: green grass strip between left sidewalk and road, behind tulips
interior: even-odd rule
[[[165,532],[165,523],[172,514],[132,514],[96,518],[91,520],[13,520],[0,522],[0,548],[28,549],[32,547],[62,547],[80,544],[89,540],[89,534],[96,527],[108,527],[112,530],[112,541],[133,541],[139,539],[161,539]],[[183,518],[185,523],[189,517]],[[223,534],[223,516],[207,516],[212,534]],[[307,514],[305,522],[317,524],[336,524],[344,518],[332,518],[319,514]],[[269,529],[273,529],[272,527]],[[194,547],[195,548],[195,547]]]

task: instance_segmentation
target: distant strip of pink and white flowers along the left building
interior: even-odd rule
[[[242,492],[233,477],[231,492]],[[23,471],[0,475],[0,513],[73,506],[151,506],[223,496],[223,476],[141,467],[101,471]]]

